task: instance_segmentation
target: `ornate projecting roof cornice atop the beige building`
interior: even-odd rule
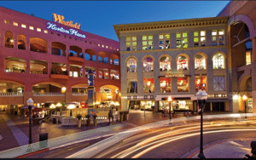
[[[166,20],[156,22],[145,22],[145,23],[133,23],[124,25],[114,25],[113,28],[119,37],[120,31],[147,31],[147,30],[161,30],[171,29],[177,27],[189,27],[189,26],[211,26],[227,24],[229,17],[212,17],[212,18],[201,18],[201,19],[187,19],[187,20]]]

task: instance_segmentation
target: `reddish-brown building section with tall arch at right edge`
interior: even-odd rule
[[[256,112],[255,12],[255,1],[230,1],[218,14],[218,17],[229,17],[227,55],[234,112]]]

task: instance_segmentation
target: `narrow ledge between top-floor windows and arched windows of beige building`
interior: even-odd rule
[[[224,49],[227,48],[224,46],[207,46],[207,47],[193,47],[193,48],[185,48],[185,49],[152,49],[152,50],[136,50],[136,51],[120,51],[120,54],[143,54],[143,53],[151,53],[151,52],[170,52],[177,50],[192,50],[192,49]]]

